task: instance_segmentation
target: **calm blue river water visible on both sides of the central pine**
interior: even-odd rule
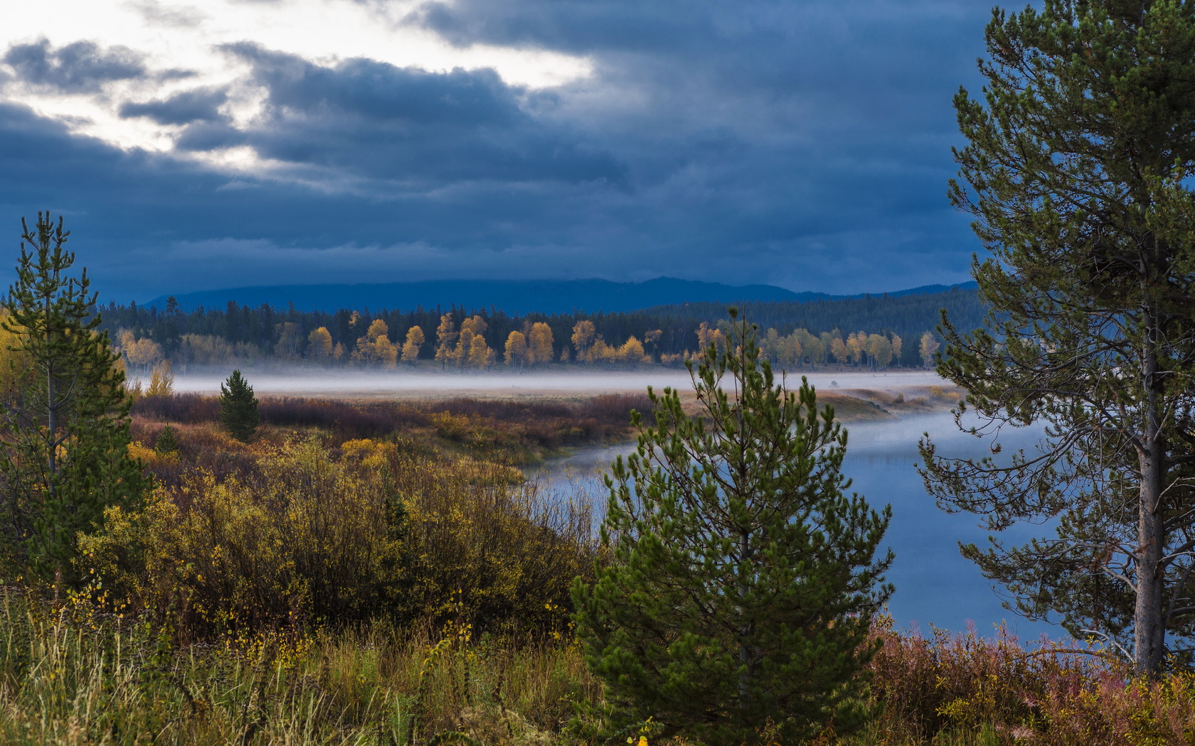
[[[850,429],[850,444],[844,471],[853,480],[856,492],[872,505],[891,503],[893,520],[887,544],[896,553],[889,580],[896,586],[890,610],[902,628],[929,631],[937,627],[962,630],[974,622],[981,634],[1006,622],[1022,639],[1040,634],[1059,636],[1053,624],[1029,622],[1000,605],[1000,597],[979,569],[958,555],[958,542],[983,544],[987,532],[969,514],[946,514],[926,494],[917,464],[917,442],[923,432],[938,443],[944,456],[980,457],[989,454],[989,442],[960,433],[949,414],[901,419],[883,424],[856,424]],[[1006,429],[999,436],[1004,452],[1032,448],[1037,430]],[[635,450],[635,444],[582,450],[568,458],[545,464],[529,476],[553,486],[568,486],[574,495],[603,506],[608,493],[601,475],[615,456]],[[1013,528],[1005,531],[1009,541],[1025,541],[1040,535],[1040,526]]]

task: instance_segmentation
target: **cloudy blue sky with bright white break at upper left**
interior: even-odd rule
[[[975,0],[38,0],[0,26],[0,283],[104,297],[658,276],[968,279]],[[4,257],[8,259],[5,260]]]

